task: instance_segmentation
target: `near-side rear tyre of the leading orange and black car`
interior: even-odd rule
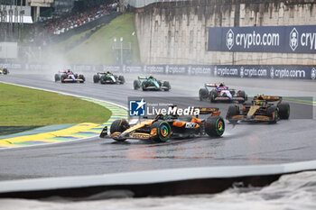
[[[220,137],[225,132],[225,122],[220,116],[209,116],[205,121],[205,132],[211,137]]]

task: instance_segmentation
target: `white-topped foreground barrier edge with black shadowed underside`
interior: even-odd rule
[[[228,187],[263,187],[283,174],[315,170],[316,160],[277,165],[163,169],[108,175],[33,178],[0,182],[0,197],[68,198],[97,195],[109,190],[127,190],[130,195],[175,196],[210,194]]]

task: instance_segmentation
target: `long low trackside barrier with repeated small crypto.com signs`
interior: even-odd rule
[[[47,64],[0,63],[10,70],[51,70]],[[114,73],[189,75],[228,78],[316,79],[316,66],[228,66],[228,65],[69,65],[75,72],[111,71]],[[60,69],[61,70],[61,69]]]

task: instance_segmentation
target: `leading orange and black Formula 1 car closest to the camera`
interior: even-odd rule
[[[207,119],[197,116],[179,116],[157,114],[154,119],[143,118],[136,123],[128,123],[125,119],[116,120],[107,133],[107,126],[100,133],[101,138],[113,138],[117,142],[126,139],[153,140],[166,142],[171,138],[201,137],[208,134],[219,137],[225,131],[225,123],[219,116],[218,108],[195,107],[200,109],[200,114],[211,114]]]

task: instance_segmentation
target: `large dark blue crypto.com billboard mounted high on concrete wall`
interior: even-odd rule
[[[209,28],[208,50],[316,53],[316,25]]]

